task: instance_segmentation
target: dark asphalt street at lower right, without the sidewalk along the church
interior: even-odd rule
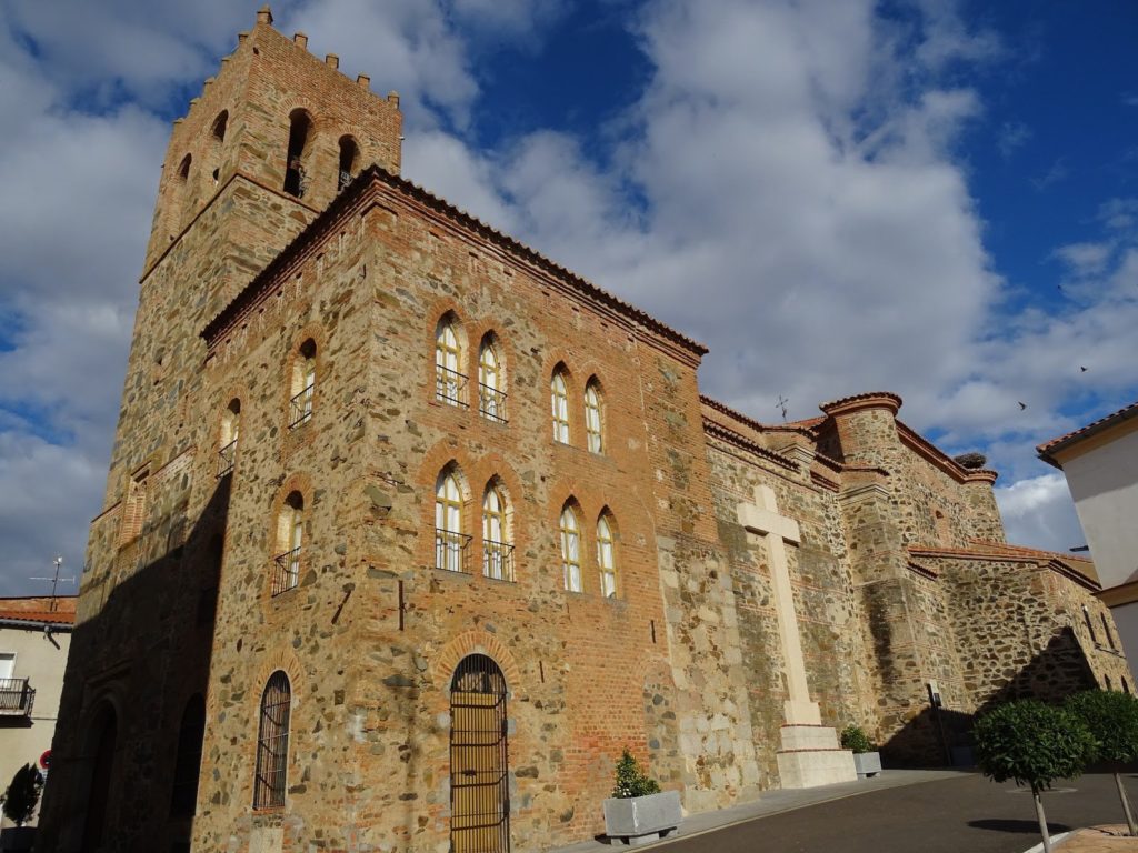
[[[1123,777],[1138,802],[1138,777]],[[1111,776],[1056,785],[1053,833],[1123,820]],[[1022,853],[1039,842],[1031,795],[979,775],[874,790],[667,844],[668,853]],[[1133,843],[1138,851],[1138,842]],[[1059,848],[1062,850],[1062,847]]]

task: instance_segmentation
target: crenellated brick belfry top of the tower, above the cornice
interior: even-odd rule
[[[337,55],[321,60],[307,44],[304,33],[274,30],[263,7],[174,121],[143,278],[234,180],[278,193],[310,218],[364,167],[398,173],[398,94],[374,94],[366,74],[352,80]]]

